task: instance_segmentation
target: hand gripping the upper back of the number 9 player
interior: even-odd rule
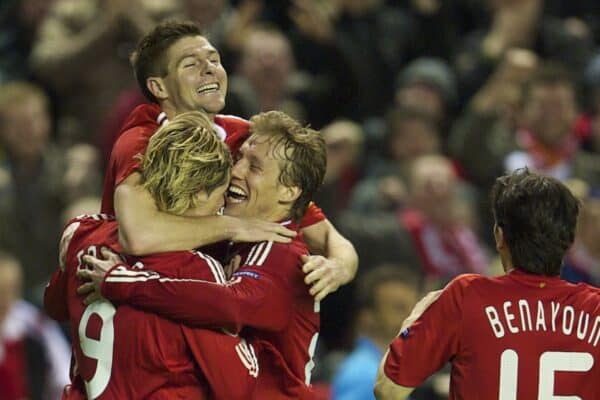
[[[90,255],[83,256],[83,262],[88,267],[91,267],[91,269],[80,269],[77,271],[77,277],[86,281],[77,288],[77,294],[85,296],[83,301],[85,305],[103,298],[101,287],[104,276],[115,265],[123,262],[117,253],[112,252],[107,247],[103,247],[101,253],[105,260]]]

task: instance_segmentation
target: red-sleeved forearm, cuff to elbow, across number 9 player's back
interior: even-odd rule
[[[150,275],[148,275],[150,274]],[[266,278],[265,278],[266,279]],[[277,288],[257,288],[241,279],[221,285],[196,279],[170,279],[152,271],[112,269],[102,283],[102,295],[190,327],[243,326],[281,329],[289,304],[275,302]],[[275,304],[271,304],[275,303]]]

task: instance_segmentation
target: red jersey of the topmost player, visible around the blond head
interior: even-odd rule
[[[166,121],[165,113],[157,104],[141,104],[131,112],[110,155],[102,190],[102,213],[115,214],[115,189],[140,168],[139,156],[146,151],[150,137]],[[217,115],[215,129],[235,154],[249,135],[250,123],[232,115]],[[310,226],[325,218],[323,211],[311,202],[300,226]]]

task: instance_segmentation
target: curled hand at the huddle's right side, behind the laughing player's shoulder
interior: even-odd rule
[[[310,294],[315,301],[323,300],[348,282],[347,271],[339,263],[323,256],[302,256],[302,271],[306,274],[304,283],[311,285]]]

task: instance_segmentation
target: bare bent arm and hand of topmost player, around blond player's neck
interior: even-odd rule
[[[145,255],[188,250],[222,240],[289,242],[295,233],[279,224],[228,216],[182,217],[157,209],[133,172],[115,190],[119,242],[125,252]]]

